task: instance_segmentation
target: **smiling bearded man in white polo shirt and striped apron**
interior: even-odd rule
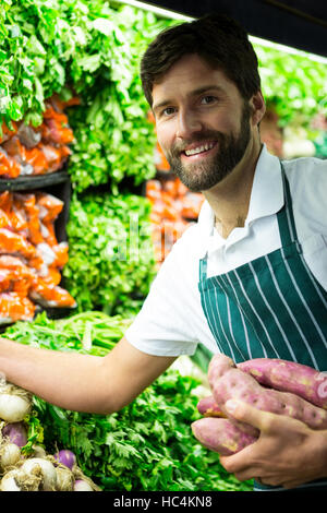
[[[167,159],[207,200],[198,223],[108,356],[1,339],[0,370],[50,403],[99,414],[130,403],[198,342],[235,362],[277,357],[327,370],[327,167],[281,166],[261,143],[265,103],[246,34],[219,15],[171,28],[147,49],[141,76]],[[327,430],[229,406],[261,437],[221,457],[228,472],[283,490],[327,480]]]

